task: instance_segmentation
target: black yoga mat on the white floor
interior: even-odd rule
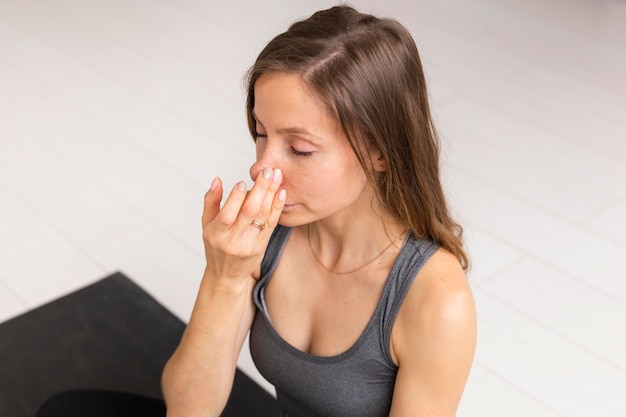
[[[0,416],[32,417],[51,395],[105,389],[161,397],[185,324],[121,273],[0,324]],[[237,370],[224,417],[280,416]]]

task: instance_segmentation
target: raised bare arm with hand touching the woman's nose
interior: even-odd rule
[[[278,192],[280,171],[265,174],[249,193],[238,184],[221,209],[219,179],[205,196],[207,265],[189,324],[163,371],[168,417],[219,416],[228,400],[237,358],[254,318],[252,289],[284,205],[284,192]],[[265,223],[266,228],[259,230],[252,221]]]

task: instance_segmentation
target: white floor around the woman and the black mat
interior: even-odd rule
[[[626,2],[352,3],[430,81],[479,310],[458,415],[623,416]],[[186,319],[204,191],[253,158],[241,78],[332,4],[0,0],[0,320],[115,270]]]

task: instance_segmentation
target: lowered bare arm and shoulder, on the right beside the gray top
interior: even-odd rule
[[[476,345],[476,312],[465,274],[439,250],[407,294],[392,332],[399,365],[391,417],[453,417]]]

